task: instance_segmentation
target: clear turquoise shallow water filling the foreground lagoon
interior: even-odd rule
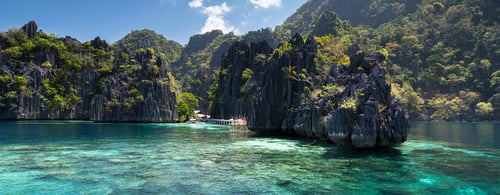
[[[202,124],[0,121],[0,194],[498,194],[499,125],[418,122],[366,151]]]

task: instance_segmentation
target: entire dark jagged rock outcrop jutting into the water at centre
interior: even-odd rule
[[[315,40],[300,35],[275,50],[266,42],[233,44],[222,63],[212,116],[246,117],[256,132],[360,148],[404,142],[408,121],[378,65],[385,57],[354,48],[349,66],[321,68],[317,48]]]

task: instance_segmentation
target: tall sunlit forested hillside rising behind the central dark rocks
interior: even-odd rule
[[[384,54],[393,94],[412,118],[498,120],[499,6],[493,0],[311,0],[276,33],[331,34]]]

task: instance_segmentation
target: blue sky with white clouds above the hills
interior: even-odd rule
[[[113,43],[132,30],[151,29],[187,44],[213,29],[245,34],[282,24],[307,0],[3,0],[0,31],[30,20],[39,29],[81,42]]]

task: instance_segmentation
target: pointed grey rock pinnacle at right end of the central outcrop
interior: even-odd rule
[[[365,148],[406,141],[409,125],[404,110],[391,97],[385,72],[377,65],[383,59],[379,53],[351,57],[353,71],[344,73],[350,78],[340,81],[347,85],[326,123],[334,143]]]

